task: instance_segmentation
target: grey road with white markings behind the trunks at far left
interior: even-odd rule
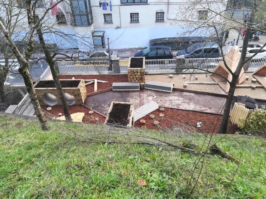
[[[22,75],[17,74],[18,69],[20,67],[19,63],[12,63],[13,60],[9,60],[9,64],[12,64],[12,72],[9,72],[7,79],[5,81],[5,85],[13,85],[13,86],[24,86],[24,80],[22,78]],[[0,60],[0,65],[4,65],[4,60]],[[42,60],[42,65],[43,67],[41,68],[39,64],[34,63],[30,67],[30,75],[32,78],[39,78],[42,74],[43,71],[46,70],[48,64]]]

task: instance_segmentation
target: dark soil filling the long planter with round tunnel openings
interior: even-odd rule
[[[60,80],[62,88],[77,88],[80,80]],[[56,88],[53,80],[40,81],[34,88]]]

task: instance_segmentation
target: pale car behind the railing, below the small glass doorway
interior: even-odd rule
[[[117,51],[110,50],[111,58],[116,58],[118,56]],[[90,60],[109,60],[108,49],[105,51],[94,51],[94,52],[79,52],[78,60],[80,61],[90,61]]]

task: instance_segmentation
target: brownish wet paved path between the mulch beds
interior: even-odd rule
[[[180,91],[166,93],[144,89],[140,91],[108,91],[88,96],[84,104],[103,115],[107,115],[112,101],[133,102],[134,109],[150,101],[155,101],[159,106],[217,114],[220,113],[219,110],[223,108],[226,100],[223,97],[195,93]]]

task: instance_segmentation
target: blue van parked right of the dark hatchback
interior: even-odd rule
[[[218,58],[220,48],[217,43],[197,43],[184,50],[180,50],[176,56],[184,55],[185,58]]]

